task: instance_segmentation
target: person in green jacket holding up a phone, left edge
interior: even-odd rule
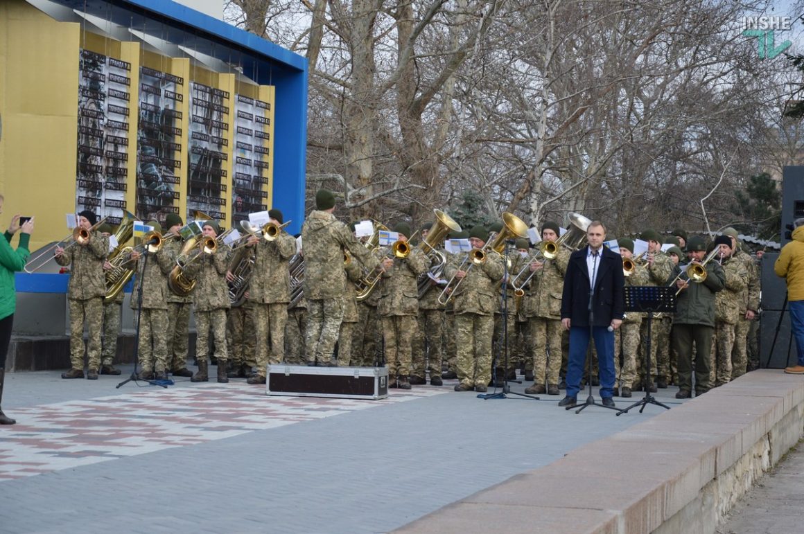
[[[0,195],[0,214],[4,198]],[[11,247],[11,238],[19,233],[17,250]],[[14,272],[22,271],[28,256],[28,241],[34,231],[34,218],[19,225],[19,215],[11,218],[11,225],[6,230],[5,239],[0,239],[0,425],[13,425],[16,421],[2,413],[2,389],[6,381],[6,354],[11,340],[11,328],[14,325],[14,309],[17,307],[17,291],[14,288]]]

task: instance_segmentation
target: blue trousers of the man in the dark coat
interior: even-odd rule
[[[802,301],[804,302],[804,301]],[[601,379],[601,397],[614,395],[614,332],[605,326],[592,328],[597,349],[597,366]],[[569,328],[569,358],[567,362],[567,396],[576,397],[580,390],[580,377],[584,374],[586,349],[589,347],[589,327]],[[592,377],[589,377],[591,380]]]

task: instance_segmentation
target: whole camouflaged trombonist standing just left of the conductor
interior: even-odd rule
[[[269,210],[268,213],[271,222],[277,226],[282,224],[280,210]],[[273,241],[252,235],[248,243],[255,247],[248,299],[254,303],[256,328],[256,374],[248,378],[248,383],[265,384],[268,365],[285,360],[285,324],[290,302],[289,263],[296,252],[296,240],[280,230]]]

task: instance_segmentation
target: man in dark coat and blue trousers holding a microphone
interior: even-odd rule
[[[620,255],[603,247],[605,226],[602,222],[589,224],[586,241],[586,247],[570,256],[564,275],[561,324],[569,330],[569,361],[567,396],[559,402],[559,406],[576,405],[591,333],[600,365],[603,405],[613,407],[613,332],[622,323],[625,277]]]

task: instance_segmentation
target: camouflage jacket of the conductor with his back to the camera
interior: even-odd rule
[[[349,227],[333,214],[313,210],[301,226],[304,247],[306,299],[322,300],[343,296],[347,275],[343,270],[343,251],[359,259],[369,269],[379,266],[371,252],[355,239]]]

